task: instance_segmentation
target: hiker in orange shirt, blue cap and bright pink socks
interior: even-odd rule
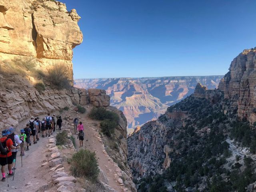
[[[7,138],[8,135],[10,134],[10,132],[8,131],[8,129],[5,129],[2,131],[2,138],[0,138],[0,142],[2,144],[2,146],[4,148],[8,148],[7,152],[4,153],[4,154],[0,154],[0,165],[2,166],[1,168],[1,172],[2,172],[2,181],[5,181],[5,165],[8,164],[8,170],[9,170],[9,174],[8,174],[8,177],[9,176],[13,176],[13,173],[12,173],[12,152],[11,152],[11,149],[18,149],[19,146],[13,146],[13,142],[11,139]]]

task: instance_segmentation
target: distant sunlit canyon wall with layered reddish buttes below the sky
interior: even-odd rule
[[[76,79],[74,86],[106,90],[111,97],[111,105],[122,110],[128,120],[128,128],[134,128],[156,120],[168,106],[192,94],[198,82],[214,89],[221,78],[222,76]]]

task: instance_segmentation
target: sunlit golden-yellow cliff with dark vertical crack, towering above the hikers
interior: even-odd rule
[[[61,64],[73,79],[72,49],[82,42],[76,10],[50,0],[0,1],[0,60],[35,58],[38,68]]]

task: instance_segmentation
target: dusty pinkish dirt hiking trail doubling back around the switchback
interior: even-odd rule
[[[96,158],[98,160],[98,165],[100,167],[100,175],[99,175],[99,184],[95,184],[94,188],[90,186],[90,190],[94,191],[127,191],[122,184],[119,184],[118,178],[120,175],[120,168],[118,165],[113,162],[113,160],[108,156],[106,151],[104,150],[104,144],[99,136],[98,132],[98,124],[99,122],[95,120],[91,120],[87,117],[88,112],[90,111],[92,106],[87,106],[87,112],[85,114],[77,114],[74,110],[70,109],[68,111],[64,111],[61,113],[63,119],[63,128],[68,127],[73,133],[73,136],[76,140],[76,150],[79,150],[79,140],[77,139],[76,134],[74,134],[73,128],[73,119],[75,116],[79,117],[79,120],[83,122],[85,128],[85,138],[84,138],[84,148],[95,151]],[[53,114],[53,113],[51,113]],[[55,112],[56,115],[59,115],[59,112]],[[44,116],[40,116],[40,119]],[[22,121],[19,124],[20,128],[23,128],[27,121]],[[16,131],[18,133],[18,131]],[[53,136],[58,133],[58,130],[55,131]],[[22,164],[21,167],[21,156],[19,156],[20,152],[17,154],[17,161],[16,161],[16,170],[14,180],[12,177],[8,178],[9,180],[9,187],[7,186],[7,178],[6,182],[1,183],[0,191],[1,192],[56,192],[57,187],[52,183],[52,177],[50,175],[50,167],[48,166],[41,166],[46,159],[46,155],[48,153],[48,149],[46,145],[48,144],[48,138],[42,138],[40,136],[40,140],[37,144],[32,144],[30,146],[30,150],[26,152],[25,156],[22,157]],[[70,158],[74,151],[70,151],[69,149],[62,149],[62,154],[66,155],[67,158]],[[63,166],[68,172],[70,173],[70,165],[67,163],[66,160],[63,162]],[[103,183],[107,184],[104,185]],[[42,186],[48,184],[48,188],[46,190],[42,190]],[[108,190],[102,190],[102,184],[107,186]],[[88,186],[88,184],[87,184]],[[100,186],[100,187],[99,187]],[[41,188],[40,188],[41,187]],[[84,180],[77,178],[76,186],[74,187],[75,191],[80,192],[82,188],[86,188]],[[89,191],[90,191],[89,190]],[[87,190],[86,190],[87,191]]]

